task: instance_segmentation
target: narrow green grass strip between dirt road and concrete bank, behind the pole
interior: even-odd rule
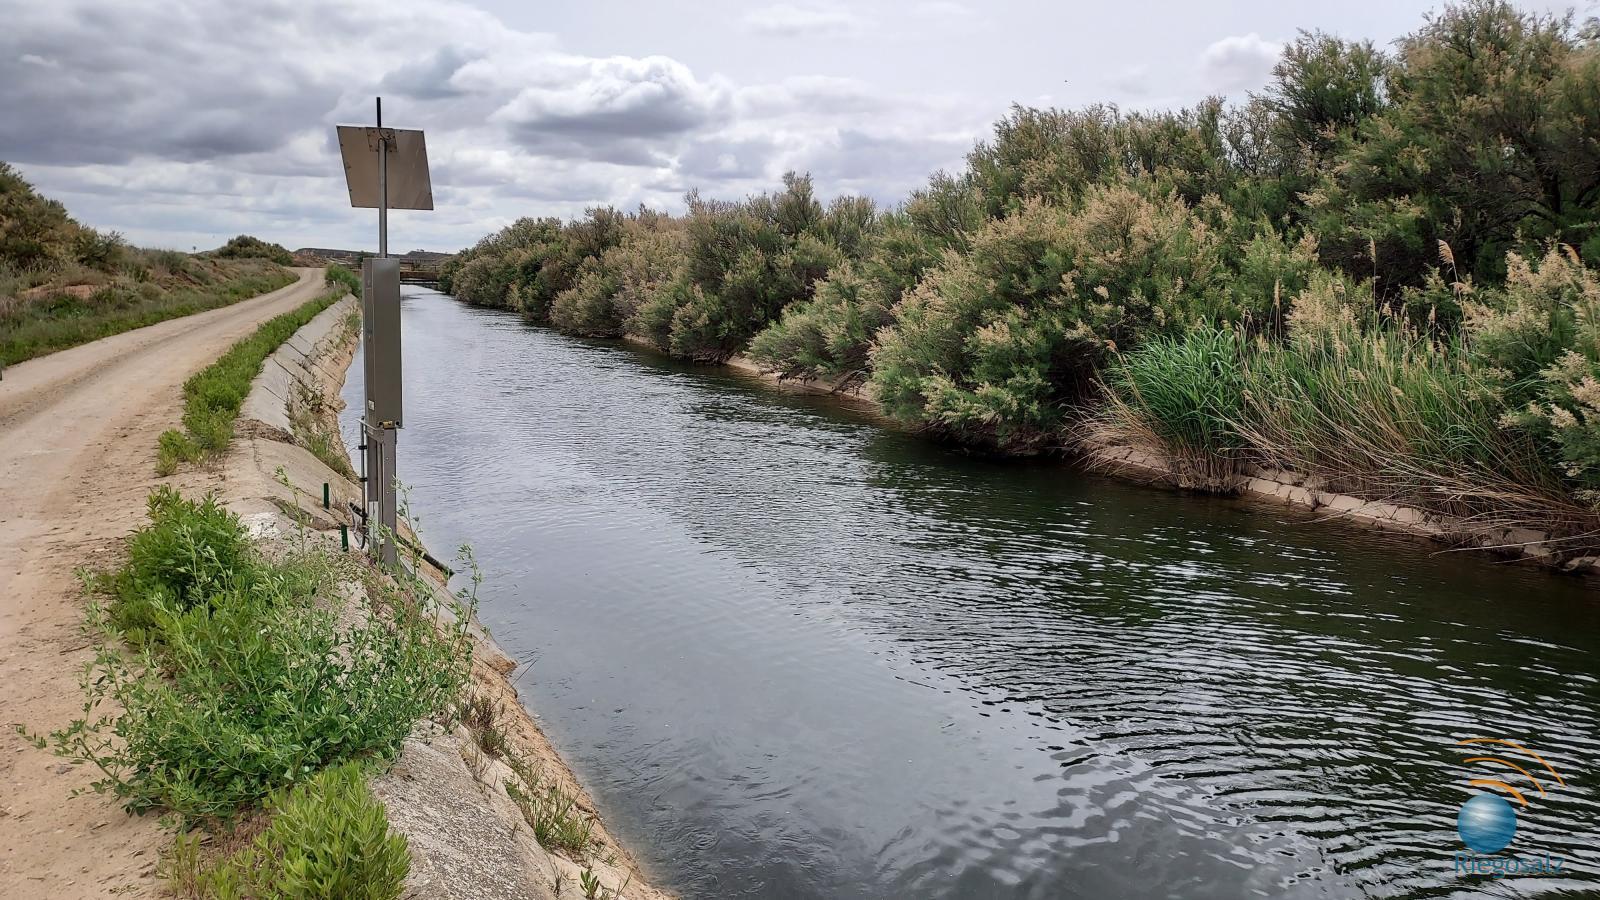
[[[178,471],[179,463],[198,463],[227,450],[234,439],[234,420],[250,394],[250,383],[272,351],[323,309],[346,295],[360,293],[360,279],[342,266],[328,266],[323,280],[328,290],[322,296],[262,322],[253,335],[184,381],[184,428],[162,432],[157,442],[157,474],[170,476]],[[349,471],[342,450],[334,455],[326,436],[320,437],[320,448],[322,455],[342,463],[342,468],[333,466],[336,471]]]

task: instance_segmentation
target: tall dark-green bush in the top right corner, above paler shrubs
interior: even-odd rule
[[[1594,223],[1600,69],[1571,16],[1469,0],[1395,43],[1382,107],[1307,192],[1330,263],[1386,288],[1418,285],[1443,240],[1483,283],[1507,251]]]

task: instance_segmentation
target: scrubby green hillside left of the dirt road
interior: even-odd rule
[[[288,255],[269,250],[253,237],[210,255],[130,247],[78,224],[0,162],[0,365],[293,282]]]

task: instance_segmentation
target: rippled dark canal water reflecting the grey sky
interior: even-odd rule
[[[402,319],[421,528],[474,546],[522,697],[683,897],[1600,894],[1576,580],[960,455],[424,288]],[[360,360],[347,436],[358,394]],[[1470,778],[1528,799],[1496,858],[1558,873],[1456,873]]]

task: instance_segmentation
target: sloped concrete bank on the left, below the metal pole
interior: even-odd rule
[[[285,341],[251,384],[219,493],[262,541],[306,528],[338,548],[342,511],[360,503],[360,487],[341,474],[350,466],[338,439],[339,391],[358,341],[358,315],[355,298],[330,306]],[[323,484],[330,509],[322,504]],[[448,594],[443,578],[432,575],[435,591]],[[394,767],[373,780],[390,825],[411,847],[406,897],[669,897],[606,831],[594,801],[523,708],[509,677],[515,663],[482,629],[474,637],[469,695],[477,730],[419,724]],[[491,748],[485,717],[496,735]],[[594,822],[589,846],[541,847],[517,794],[571,798]],[[598,879],[594,894],[586,894],[586,876]]]

